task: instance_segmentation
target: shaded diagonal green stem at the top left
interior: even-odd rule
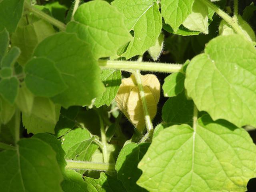
[[[31,6],[28,2],[25,1],[25,5],[26,8],[28,8],[28,10],[34,14],[36,14],[38,17],[48,21],[49,23],[53,24],[54,26],[60,28],[61,30],[65,30],[66,29],[66,25],[62,22],[60,22],[57,19],[54,19],[53,17],[49,16],[48,14],[38,10],[37,8]]]

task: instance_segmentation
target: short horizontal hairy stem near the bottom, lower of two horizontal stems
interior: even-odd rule
[[[115,164],[73,161],[73,160],[66,160],[66,162],[67,162],[67,166],[66,166],[67,169],[77,169],[77,170],[84,169],[84,170],[116,172]]]

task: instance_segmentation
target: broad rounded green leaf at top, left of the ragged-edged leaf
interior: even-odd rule
[[[81,40],[89,43],[96,58],[116,56],[118,48],[132,39],[124,25],[124,16],[106,1],[82,4],[74,20],[66,31],[77,33]]]

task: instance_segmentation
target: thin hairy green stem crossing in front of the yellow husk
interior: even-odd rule
[[[142,81],[141,81],[141,78],[140,78],[140,70],[134,70],[134,76],[136,78],[136,82],[137,82],[138,88],[140,90],[140,98],[142,100],[142,106],[143,106],[144,115],[145,115],[146,127],[147,127],[147,130],[148,130],[148,133],[149,133],[149,137],[151,139],[152,136],[153,136],[154,129],[153,129],[153,125],[152,125],[150,115],[149,115],[148,104],[146,102],[146,97],[145,97],[145,94],[144,94]]]

